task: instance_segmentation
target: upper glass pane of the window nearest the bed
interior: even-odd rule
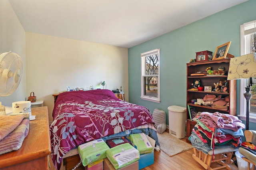
[[[158,54],[147,56],[145,62],[145,75],[158,74]]]

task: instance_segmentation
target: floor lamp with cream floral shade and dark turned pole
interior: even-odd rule
[[[250,83],[245,88],[244,98],[246,99],[246,130],[249,129],[250,100],[252,98],[252,78],[256,77],[256,53],[242,55],[230,59],[227,80],[250,78]]]

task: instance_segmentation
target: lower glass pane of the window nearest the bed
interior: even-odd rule
[[[144,95],[158,98],[158,76],[144,77]]]

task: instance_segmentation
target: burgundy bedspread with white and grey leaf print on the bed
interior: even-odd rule
[[[150,111],[116,98],[110,90],[61,93],[56,98],[52,116],[51,157],[57,170],[65,154],[95,139],[145,133],[160,146]]]

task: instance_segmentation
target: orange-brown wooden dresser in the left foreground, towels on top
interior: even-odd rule
[[[30,121],[27,137],[18,150],[0,155],[0,170],[48,170],[51,152],[48,108],[32,107],[36,119]]]

